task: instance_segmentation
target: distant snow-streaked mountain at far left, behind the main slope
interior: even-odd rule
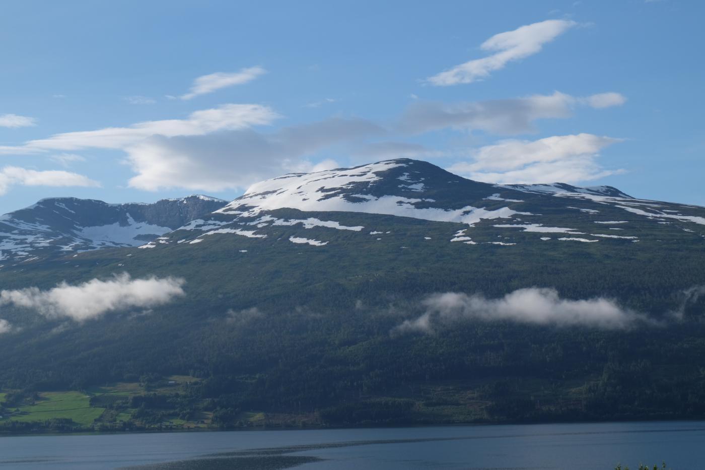
[[[42,199],[0,216],[0,259],[139,246],[225,204],[204,195],[152,204]]]

